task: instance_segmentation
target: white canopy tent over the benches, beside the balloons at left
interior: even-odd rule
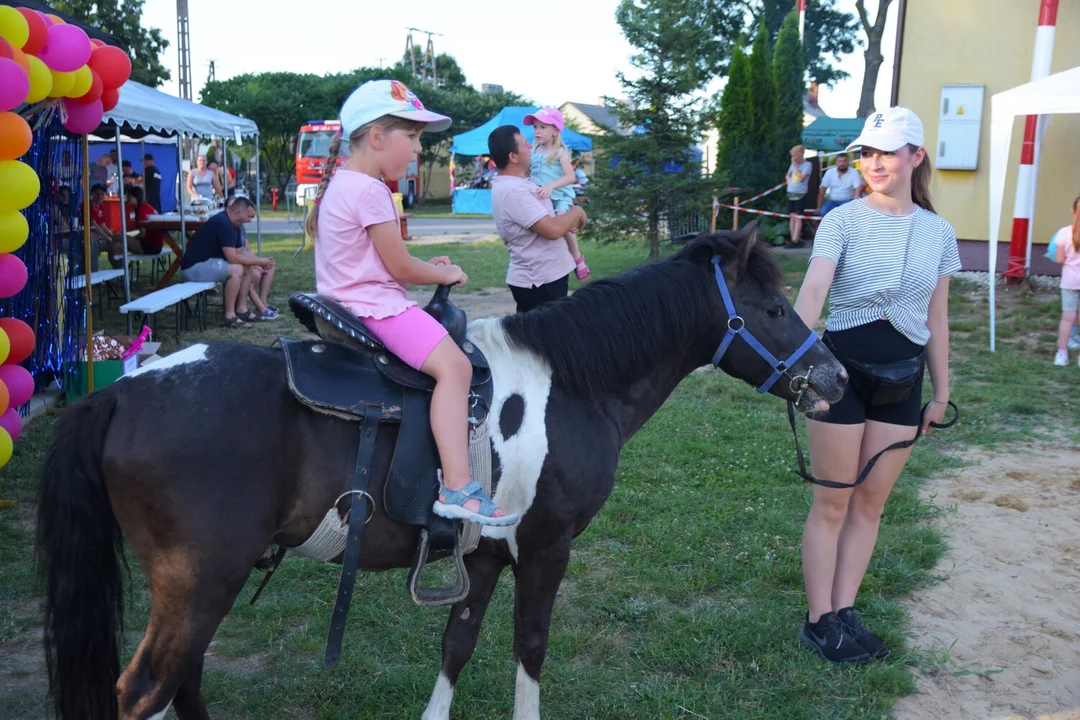
[[[124,135],[121,135],[121,132]],[[240,141],[244,137],[255,138],[255,236],[256,247],[262,252],[261,204],[262,194],[259,182],[259,128],[247,118],[233,116],[221,110],[198,105],[174,95],[148,87],[129,80],[120,87],[120,100],[117,106],[105,113],[100,126],[94,131],[94,136],[112,138],[117,144],[118,159],[122,160],[121,141],[125,138],[136,139],[147,135],[163,138],[175,138],[177,172],[183,173],[180,146],[185,136],[211,138],[220,137],[228,144],[228,138]],[[168,142],[170,140],[166,140]],[[183,201],[183,185],[180,186]],[[120,184],[120,203],[123,205],[123,184]],[[180,244],[186,245],[185,213],[180,203]],[[127,214],[120,214],[121,235],[127,233]],[[131,279],[127,274],[127,244],[123,245],[124,268],[124,301],[131,301]],[[127,330],[131,332],[131,316],[127,317]]]

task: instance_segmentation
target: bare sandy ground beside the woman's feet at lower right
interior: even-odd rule
[[[895,717],[1080,720],[1080,449],[966,460],[922,490],[959,502],[941,582],[908,603],[923,663]]]

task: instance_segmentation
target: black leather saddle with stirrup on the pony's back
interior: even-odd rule
[[[422,528],[408,579],[414,600],[420,604],[448,604],[463,598],[469,583],[458,545],[458,524],[432,512],[438,495],[440,467],[429,420],[435,381],[388,351],[363,321],[337,301],[296,294],[288,304],[300,324],[321,338],[279,339],[293,395],[319,412],[361,423],[366,419],[397,425],[382,510],[397,522]],[[446,328],[471,361],[470,412],[476,421],[483,420],[491,402],[491,371],[484,354],[465,338],[464,311],[450,302],[449,286],[435,290],[423,310]],[[451,554],[459,571],[456,585],[420,587],[424,565]]]

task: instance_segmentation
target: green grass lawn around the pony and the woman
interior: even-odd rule
[[[293,262],[298,239],[267,243],[279,259],[276,304],[311,286],[311,256]],[[471,287],[502,284],[497,244],[428,246],[467,268]],[[596,276],[636,264],[632,246],[588,246]],[[806,260],[782,256],[798,286]],[[804,599],[799,536],[810,491],[795,464],[775,398],[716,372],[694,373],[630,443],[619,483],[575,543],[551,628],[542,683],[553,719],[883,718],[914,691],[913,673],[932,658],[904,650],[901,600],[933,582],[944,549],[933,524],[944,505],[919,500],[920,483],[949,472],[953,451],[1075,434],[1080,370],[1049,362],[1056,327],[1053,293],[1008,294],[997,354],[987,348],[985,293],[954,288],[954,391],[961,422],[920,443],[889,501],[860,602],[896,648],[893,657],[839,669],[795,643]],[[114,311],[113,311],[114,313]],[[108,314],[108,313],[107,313]],[[246,336],[269,341],[298,331],[292,320]],[[929,385],[929,383],[928,383]],[[36,421],[0,473],[0,717],[40,718],[40,622],[30,565],[32,503],[52,420]],[[257,427],[251,432],[258,432]],[[259,603],[241,595],[222,623],[203,693],[215,718],[417,718],[440,664],[445,610],[415,606],[405,571],[359,582],[341,666],[320,666],[337,584],[335,566],[286,561]],[[454,718],[507,718],[513,703],[512,583],[503,580],[481,642],[457,687]],[[137,574],[129,652],[147,619]]]

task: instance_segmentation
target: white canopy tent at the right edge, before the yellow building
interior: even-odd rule
[[[1013,120],[1017,116],[1080,113],[1080,67],[1007,90],[990,98],[990,352],[997,349],[998,232],[1009,168]]]

